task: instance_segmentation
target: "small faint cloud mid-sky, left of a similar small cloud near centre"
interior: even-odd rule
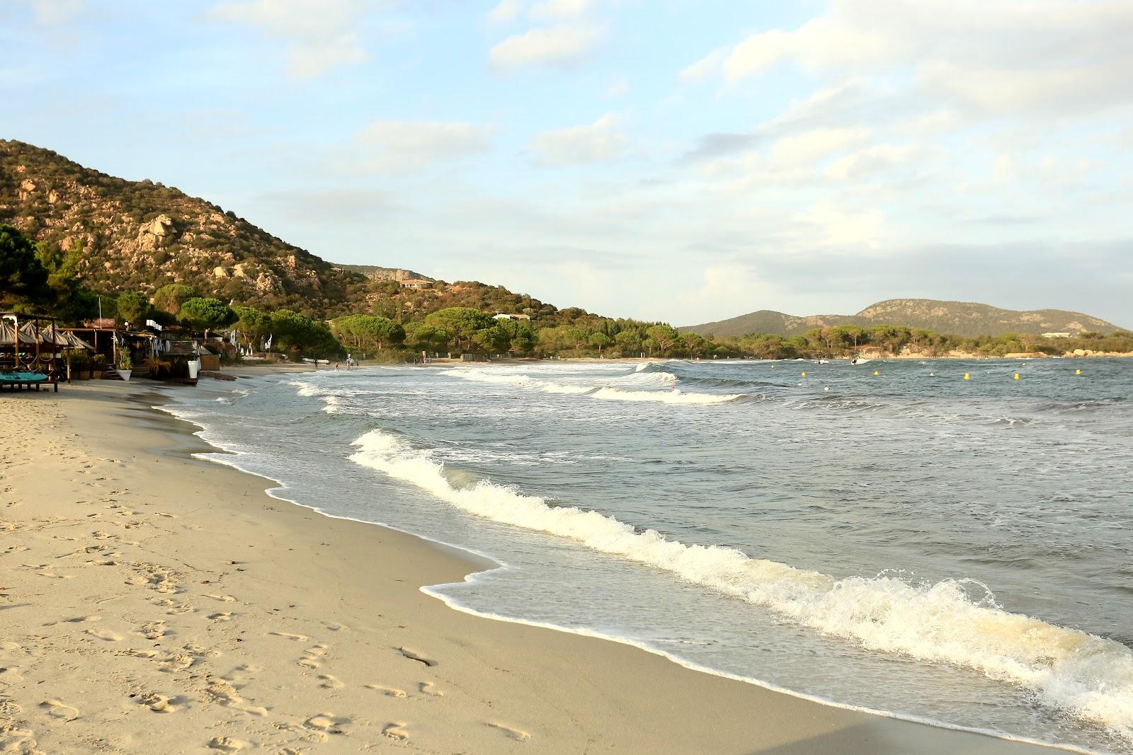
[[[459,160],[491,147],[493,129],[441,121],[375,121],[358,135],[361,166],[401,172]]]

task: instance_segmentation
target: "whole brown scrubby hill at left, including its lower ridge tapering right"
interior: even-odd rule
[[[540,326],[600,319],[477,281],[332,264],[173,187],[114,178],[50,149],[0,139],[3,223],[63,252],[79,250],[75,277],[111,297],[153,295],[182,283],[202,295],[316,319],[373,312],[410,323],[446,307],[528,315]],[[432,285],[401,285],[412,278]]]

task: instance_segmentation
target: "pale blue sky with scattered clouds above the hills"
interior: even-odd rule
[[[1130,0],[2,0],[0,138],[612,317],[1133,327],[1131,38]]]

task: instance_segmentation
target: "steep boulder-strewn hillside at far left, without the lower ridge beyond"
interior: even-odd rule
[[[368,283],[210,201],[22,141],[0,140],[0,223],[63,250],[80,246],[79,273],[109,294],[187,283],[225,300],[333,316],[364,299]]]

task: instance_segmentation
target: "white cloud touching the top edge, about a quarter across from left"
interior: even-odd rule
[[[363,0],[225,0],[206,17],[258,27],[284,40],[291,75],[310,79],[369,59],[357,28],[373,10],[374,5]]]

